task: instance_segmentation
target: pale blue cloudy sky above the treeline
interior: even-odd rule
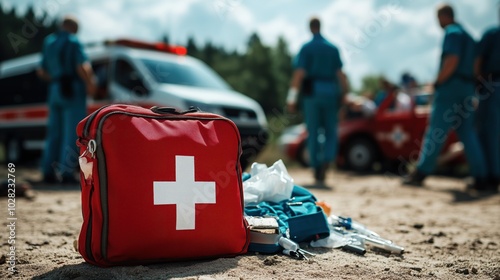
[[[479,40],[498,24],[499,0],[450,0],[456,19]],[[367,74],[384,74],[398,82],[403,71],[421,83],[434,78],[443,32],[436,0],[0,0],[4,7],[59,16],[76,15],[83,42],[132,37],[157,40],[165,33],[174,43],[189,36],[202,44],[211,41],[228,50],[243,51],[249,35],[257,32],[273,45],[283,36],[296,54],[311,37],[311,16],[322,20],[322,33],[341,51],[344,69],[357,87]]]

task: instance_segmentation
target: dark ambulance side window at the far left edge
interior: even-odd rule
[[[0,79],[0,107],[47,102],[47,84],[35,71]]]

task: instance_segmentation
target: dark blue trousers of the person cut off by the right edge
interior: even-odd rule
[[[479,140],[484,150],[488,176],[500,179],[500,79],[483,86],[476,113]]]

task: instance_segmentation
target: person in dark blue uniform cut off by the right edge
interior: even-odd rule
[[[500,15],[500,9],[499,9]],[[488,29],[477,46],[479,139],[486,157],[489,189],[500,184],[500,26]]]

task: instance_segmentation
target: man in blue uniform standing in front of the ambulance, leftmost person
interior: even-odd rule
[[[92,67],[77,32],[77,20],[66,16],[60,30],[43,43],[38,75],[48,82],[49,117],[41,163],[46,183],[77,183],[76,126],[86,116],[86,95],[95,88]]]

